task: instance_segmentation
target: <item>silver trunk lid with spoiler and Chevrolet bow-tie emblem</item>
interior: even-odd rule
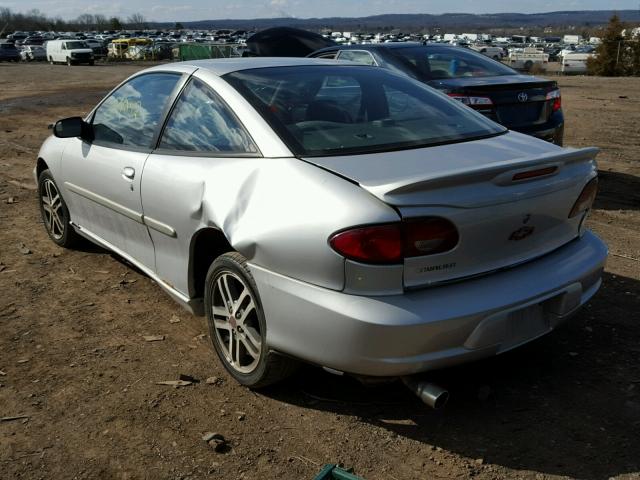
[[[305,160],[357,182],[404,219],[437,216],[456,225],[460,240],[453,250],[405,260],[404,284],[410,288],[517,265],[576,238],[582,215],[568,214],[596,175],[597,152],[510,132],[423,149]],[[513,180],[532,171],[547,173]]]

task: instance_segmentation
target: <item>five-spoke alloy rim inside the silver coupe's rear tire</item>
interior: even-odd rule
[[[253,372],[262,354],[256,302],[246,283],[224,270],[215,279],[211,304],[215,340],[227,363],[237,372]]]

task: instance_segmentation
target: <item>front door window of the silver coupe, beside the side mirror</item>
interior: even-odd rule
[[[93,117],[95,142],[151,147],[158,123],[180,75],[152,73],[125,83]]]

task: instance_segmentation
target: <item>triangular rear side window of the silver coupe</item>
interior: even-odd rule
[[[209,87],[194,78],[167,122],[160,148],[190,152],[257,153],[249,134]]]

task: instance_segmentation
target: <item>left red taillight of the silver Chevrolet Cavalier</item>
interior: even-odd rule
[[[458,240],[458,230],[449,220],[427,217],[344,230],[332,235],[329,244],[351,260],[393,264],[404,258],[447,252]]]

